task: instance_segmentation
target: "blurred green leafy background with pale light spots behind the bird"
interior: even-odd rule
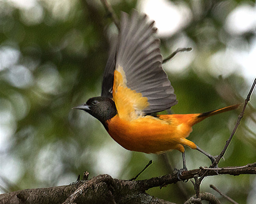
[[[156,21],[161,53],[177,48],[163,65],[179,103],[172,113],[201,113],[243,103],[256,76],[256,6],[248,0],[109,0],[117,16],[136,8]],[[109,38],[116,27],[100,0],[0,0],[0,193],[68,185],[84,171],[139,179],[182,168],[182,154],[130,152],[101,123],[71,109],[99,96]],[[220,167],[256,161],[256,97],[252,96]],[[189,138],[212,155],[223,149],[241,110],[194,126]],[[169,113],[168,111],[163,114]],[[188,169],[210,160],[186,148]],[[171,168],[170,168],[170,165]],[[256,200],[254,175],[214,176],[213,184],[239,203]],[[148,193],[182,203],[195,194],[191,182],[153,188]]]

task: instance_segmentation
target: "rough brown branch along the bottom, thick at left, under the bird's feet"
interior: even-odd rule
[[[195,175],[201,176],[205,170],[194,169],[183,172],[180,176],[182,180],[193,178]],[[220,169],[218,174],[256,174],[256,167],[232,168],[231,170]],[[217,175],[215,171],[209,171],[209,176]],[[145,191],[167,184],[178,182],[176,174],[154,177],[141,181],[127,181],[113,179],[110,175],[99,175],[89,181],[78,181],[67,186],[57,186],[50,188],[35,188],[19,190],[0,195],[1,204],[19,203],[26,204],[69,204],[69,203],[159,203],[172,204],[161,199],[154,198]],[[201,195],[201,194],[200,194]]]

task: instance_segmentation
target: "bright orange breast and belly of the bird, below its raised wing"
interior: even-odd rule
[[[183,145],[196,149],[196,145],[185,139],[191,126],[177,121],[164,121],[152,116],[127,121],[118,115],[107,122],[108,133],[127,150],[158,153],[177,149],[184,152]]]

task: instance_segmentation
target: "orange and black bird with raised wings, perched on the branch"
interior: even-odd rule
[[[127,150],[161,153],[179,150],[187,170],[184,146],[215,158],[186,139],[203,119],[238,108],[231,105],[198,114],[153,115],[177,104],[174,89],[162,69],[160,40],[154,22],[134,10],[122,13],[120,31],[105,67],[101,97],[74,107],[97,118],[109,135]]]

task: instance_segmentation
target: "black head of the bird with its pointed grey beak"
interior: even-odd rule
[[[106,120],[113,118],[117,114],[115,102],[106,97],[90,98],[85,104],[73,107],[86,111],[97,118],[106,128]]]

